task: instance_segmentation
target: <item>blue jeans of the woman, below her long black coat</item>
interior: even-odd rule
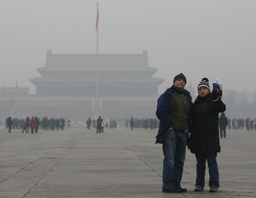
[[[195,154],[196,157],[196,187],[204,187],[205,185],[205,170],[206,170],[206,160],[209,168],[209,186],[210,188],[218,188],[219,185],[219,170],[217,164],[217,153],[198,153]]]

